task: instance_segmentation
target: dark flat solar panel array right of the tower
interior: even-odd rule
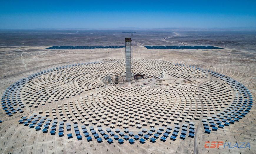
[[[144,46],[147,49],[223,49],[214,46]]]

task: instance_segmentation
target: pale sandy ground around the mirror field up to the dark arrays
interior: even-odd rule
[[[64,137],[59,137],[58,129],[56,129],[56,135],[51,135],[49,132],[42,133],[42,131],[36,131],[35,128],[29,128],[29,126],[24,126],[24,124],[19,124],[18,122],[22,116],[31,115],[29,104],[25,104],[26,107],[24,108],[24,112],[16,113],[13,116],[6,115],[4,110],[1,108],[0,120],[3,120],[4,122],[0,123],[0,153],[256,153],[256,146],[254,141],[256,136],[254,106],[256,76],[255,53],[247,50],[237,50],[233,48],[212,50],[149,50],[142,46],[141,43],[134,44],[134,59],[157,59],[194,65],[205,70],[218,72],[239,81],[250,90],[253,96],[254,101],[250,112],[248,112],[245,117],[240,119],[240,121],[237,121],[234,124],[230,124],[230,126],[224,127],[223,129],[218,129],[218,131],[212,131],[210,134],[204,133],[205,129],[201,122],[202,119],[207,119],[207,117],[200,116],[200,119],[198,120],[191,120],[191,122],[195,122],[196,136],[194,138],[186,137],[186,139],[182,140],[177,137],[175,141],[172,141],[170,140],[169,135],[167,141],[165,142],[160,141],[158,138],[155,143],[146,141],[144,144],[141,144],[139,141],[135,141],[135,143],[131,145],[128,143],[128,141],[124,141],[123,144],[119,144],[117,141],[109,144],[105,139],[103,139],[102,143],[98,143],[94,137],[93,141],[88,142],[83,133],[81,134],[82,140],[78,141],[74,136],[75,133],[73,128],[72,139],[68,139],[66,130],[64,130]],[[7,87],[17,82],[19,79],[28,77],[29,75],[43,70],[65,66],[67,64],[100,62],[103,59],[123,59],[125,57],[125,48],[94,50],[44,49],[48,47],[50,46],[12,46],[0,48],[1,95],[4,93],[4,90]],[[107,69],[107,67],[104,67],[104,69]],[[115,68],[109,67],[109,69],[113,70]],[[170,82],[168,79],[170,79]],[[170,77],[166,77],[166,81],[168,82],[163,83],[174,85],[175,82],[179,82],[182,84],[181,80],[174,82],[171,81],[171,79],[172,78]],[[211,75],[205,79],[198,79],[198,83],[196,85],[196,90],[198,89],[197,92],[201,93],[202,89],[200,87],[211,79],[221,82],[219,78],[211,77]],[[228,85],[226,86],[228,87]],[[135,87],[135,84],[130,86],[128,85],[128,87]],[[58,105],[64,108],[65,103],[67,102],[75,103],[75,100],[79,100],[79,98],[84,97],[84,95],[88,95],[89,97],[90,94],[99,92],[101,92],[101,90],[92,89],[86,92],[82,92],[81,94],[71,96],[70,98],[51,102],[38,108],[32,106],[32,114],[40,114],[39,112],[42,110],[41,115],[46,116],[47,111],[49,110],[50,116],[47,118],[54,119],[52,115],[52,108],[56,108],[57,110]],[[234,97],[235,92],[232,92],[232,99],[230,99],[230,101],[232,101]],[[71,111],[70,106],[68,106],[68,108]],[[225,109],[226,108],[221,109],[221,111],[224,111]],[[76,119],[75,116],[73,117]],[[59,121],[61,117],[57,115],[57,119]],[[81,126],[83,123],[81,123],[79,120],[77,121],[80,132],[82,132]],[[71,126],[73,125],[72,120],[67,119],[67,122],[71,123]],[[184,119],[179,124],[182,125],[183,122]],[[92,123],[93,121],[89,122],[89,125],[94,126],[94,129],[97,128],[97,125]],[[59,123],[57,126],[58,125]],[[171,123],[171,126],[174,126],[173,122]],[[158,129],[159,127],[160,126],[156,126],[155,128]],[[103,126],[102,128],[106,131],[107,126]],[[116,126],[114,129],[116,128],[118,128],[118,126]],[[124,131],[122,127],[120,128],[121,131]],[[145,128],[150,129],[149,126],[146,126]],[[136,128],[135,126],[129,126],[129,130],[136,134],[141,129]],[[90,133],[90,136],[93,135]],[[206,141],[230,142],[232,146],[235,145],[236,142],[239,143],[239,145],[241,145],[240,142],[249,142],[250,149],[248,147],[223,148],[223,146],[221,146],[219,149],[205,148],[204,145]]]

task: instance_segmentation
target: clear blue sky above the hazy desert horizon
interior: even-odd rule
[[[256,26],[251,0],[2,0],[0,29]]]

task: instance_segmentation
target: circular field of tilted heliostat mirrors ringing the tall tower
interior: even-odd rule
[[[199,123],[211,133],[251,109],[249,90],[225,75],[134,59],[133,73],[143,78],[126,83],[124,63],[106,59],[38,72],[8,87],[2,108],[9,116],[24,115],[19,123],[34,131],[109,144],[194,138]]]

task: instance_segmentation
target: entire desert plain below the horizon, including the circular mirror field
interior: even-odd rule
[[[125,48],[46,48],[124,45],[129,34],[117,31],[1,31],[1,34],[0,153],[256,153],[255,32],[138,32],[133,43],[134,73],[144,74],[145,78],[119,85],[105,85],[104,77],[124,73]],[[144,45],[212,45],[224,49],[147,49]],[[31,76],[34,74],[37,76]],[[227,80],[216,76],[219,74]],[[250,96],[232,87],[229,82],[233,81],[245,86]],[[10,97],[8,92],[14,95]],[[10,97],[9,101],[6,97]],[[14,109],[9,102],[16,103]],[[23,107],[17,109],[17,106]],[[6,108],[17,112],[8,115]],[[242,116],[237,115],[238,111]],[[224,124],[229,116],[236,118],[234,123],[212,130],[212,123]],[[59,134],[62,121],[63,136]],[[47,132],[43,131],[45,125],[49,125],[45,127]],[[205,125],[210,126],[210,134],[205,133]],[[40,129],[36,130],[36,126]],[[185,127],[186,137],[182,139]],[[193,127],[195,136],[189,137]],[[177,138],[172,140],[175,128],[178,128]],[[81,138],[77,138],[77,130]],[[166,139],[161,138],[166,131]],[[92,141],[88,141],[86,132]],[[156,133],[159,136],[153,142],[151,138]],[[135,140],[136,134],[141,134],[139,139],[145,141]],[[102,141],[97,140],[99,137]],[[231,145],[205,148],[207,141]],[[238,146],[250,143],[250,148],[232,148],[236,143]]]

